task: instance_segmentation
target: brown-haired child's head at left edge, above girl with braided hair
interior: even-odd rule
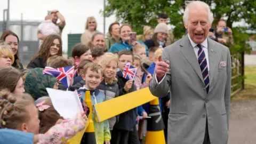
[[[0,82],[0,91],[8,89],[15,95],[25,92],[20,70],[14,67],[0,67]]]

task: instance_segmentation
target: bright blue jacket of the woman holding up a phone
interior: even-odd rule
[[[137,41],[139,42],[140,44],[144,45],[146,47],[146,53],[147,53],[147,56],[148,56],[148,46],[145,45],[143,42],[141,41]],[[132,50],[132,45],[129,45],[127,43],[115,43],[113,44],[110,49],[108,50],[108,52],[119,52],[119,51],[122,51],[122,50]]]

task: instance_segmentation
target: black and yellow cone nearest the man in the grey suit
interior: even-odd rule
[[[159,100],[149,102],[149,115],[147,119],[146,144],[165,144],[164,121],[159,107]]]

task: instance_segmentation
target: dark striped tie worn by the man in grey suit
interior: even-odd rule
[[[207,68],[207,61],[206,61],[205,53],[204,53],[204,50],[202,49],[202,46],[200,44],[198,44],[197,46],[199,47],[198,63],[199,63],[199,66],[201,68],[201,72],[203,75],[206,92],[208,93],[210,79],[209,79],[209,73],[208,73],[208,68]]]

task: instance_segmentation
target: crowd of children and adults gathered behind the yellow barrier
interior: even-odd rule
[[[83,130],[87,117],[83,113],[66,120],[58,114],[46,88],[66,91],[67,87],[54,76],[44,75],[44,68],[74,66],[75,73],[68,90],[77,90],[82,100],[85,91],[90,91],[93,105],[143,89],[149,85],[164,47],[178,39],[167,26],[169,18],[171,15],[169,17],[166,13],[158,14],[158,25],[155,28],[143,27],[143,34],[137,35],[133,41],[131,25],[113,22],[105,36],[97,30],[95,18],[89,17],[81,43],[73,47],[70,58],[65,58],[62,56],[61,31],[65,28],[66,20],[58,10],[53,10],[38,26],[39,50],[26,68],[19,58],[19,37],[11,30],[5,30],[0,38],[3,42],[0,45],[1,129],[33,133],[35,143],[65,143]],[[211,28],[208,37],[228,47],[234,44],[232,30],[226,26],[225,20],[220,20],[216,29]],[[127,62],[137,68],[133,81],[123,77]],[[168,93],[162,97],[159,98],[159,107],[167,138],[171,95]],[[96,123],[93,118],[95,139],[98,143],[106,144],[141,143],[148,114],[149,103],[145,103],[101,123]],[[142,118],[138,120],[138,116]],[[78,128],[73,129],[74,126]],[[57,137],[52,135],[53,132],[61,134]]]

